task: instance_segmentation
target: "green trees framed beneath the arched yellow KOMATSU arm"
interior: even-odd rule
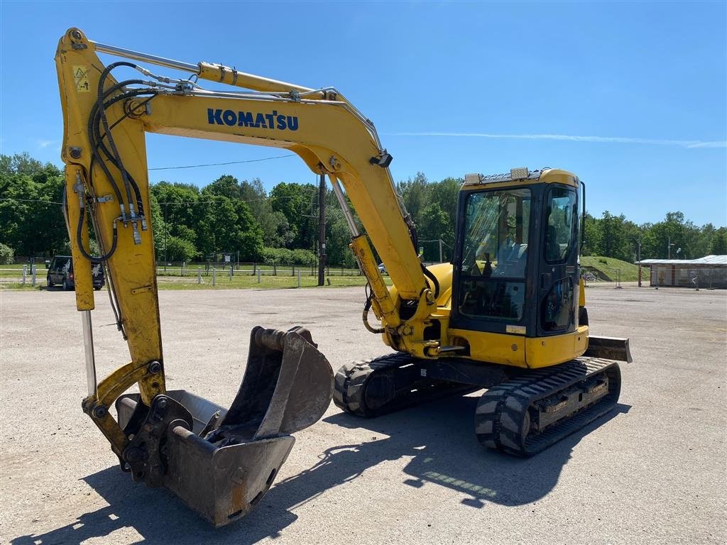
[[[151,187],[157,259],[193,261],[230,253],[240,261],[313,265],[318,254],[318,188],[281,182],[269,193],[260,179],[222,176],[201,190],[159,182]],[[332,202],[332,195],[326,195]],[[326,209],[331,265],[353,267],[348,226],[338,208]]]

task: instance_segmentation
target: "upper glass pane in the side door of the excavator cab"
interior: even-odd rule
[[[545,221],[545,261],[568,259],[576,233],[576,192],[568,187],[552,187],[547,202]]]

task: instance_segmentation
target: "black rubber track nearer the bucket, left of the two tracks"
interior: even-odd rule
[[[366,387],[372,376],[394,374],[398,368],[409,364],[416,366],[420,362],[418,358],[398,352],[374,360],[347,363],[336,374],[333,401],[337,407],[348,413],[374,418],[447,395],[465,394],[480,389],[470,384],[421,379],[398,391],[392,389],[388,392],[389,399],[378,407],[371,408],[366,405]]]

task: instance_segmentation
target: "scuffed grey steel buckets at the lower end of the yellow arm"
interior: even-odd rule
[[[331,401],[333,372],[308,330],[252,330],[245,375],[230,408],[185,390],[116,400],[129,437],[123,465],[134,480],[164,486],[219,527],[244,517],[273,484],[290,435]]]

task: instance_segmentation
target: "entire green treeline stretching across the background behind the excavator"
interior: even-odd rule
[[[450,259],[461,178],[429,182],[424,174],[397,184],[417,225],[425,261]],[[60,202],[63,173],[27,153],[0,156],[0,259],[51,256],[70,251]],[[326,191],[326,254],[330,265],[353,267],[345,217]],[[178,182],[151,187],[158,261],[200,261],[232,254],[241,262],[314,265],[318,253],[318,187],[281,182],[270,192],[260,179],[222,176],[199,188]],[[355,211],[354,211],[355,214]],[[358,217],[355,217],[359,223]],[[608,211],[586,218],[584,254],[633,261],[638,257],[694,259],[727,254],[727,229],[698,227],[681,212],[637,225]],[[441,243],[440,243],[441,241]]]

